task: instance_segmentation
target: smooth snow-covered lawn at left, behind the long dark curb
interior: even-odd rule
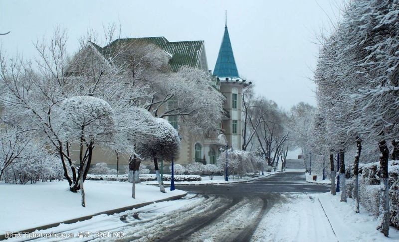
[[[0,234],[127,207],[184,194],[167,189],[161,193],[156,186],[132,185],[127,182],[86,181],[86,208],[81,206],[80,193],[68,191],[67,181],[15,185],[0,183]],[[12,211],[12,212],[11,212]]]

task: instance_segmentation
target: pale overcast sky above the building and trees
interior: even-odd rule
[[[341,0],[342,1],[342,0]],[[336,21],[340,0],[0,0],[0,35],[8,54],[34,55],[32,42],[68,29],[68,48],[103,25],[121,23],[123,37],[165,36],[169,41],[204,40],[213,70],[224,31],[224,10],[239,75],[256,92],[286,110],[316,105],[309,80],[317,62],[316,36]],[[332,21],[331,21],[331,20]]]

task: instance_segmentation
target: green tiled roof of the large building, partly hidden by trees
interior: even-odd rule
[[[103,48],[94,44],[94,47],[104,56],[106,56],[106,49],[113,48],[115,45],[120,43],[129,43],[137,40],[148,41],[149,43],[155,44],[162,50],[172,56],[169,60],[169,64],[172,70],[177,71],[182,66],[198,67],[200,63],[200,53],[203,48],[203,40],[200,41],[179,41],[169,42],[165,37],[147,37],[147,38],[126,38],[117,39],[108,46]]]

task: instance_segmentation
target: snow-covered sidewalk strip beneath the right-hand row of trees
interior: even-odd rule
[[[322,206],[326,217],[340,242],[394,242],[399,241],[399,232],[391,227],[390,237],[384,237],[376,230],[378,221],[370,216],[365,209],[360,208],[360,213],[354,211],[354,203],[351,198],[347,203],[340,202],[340,193],[336,196],[323,193],[317,196],[318,203]]]

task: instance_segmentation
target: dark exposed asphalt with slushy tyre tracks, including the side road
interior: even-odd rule
[[[177,189],[205,197],[201,208],[159,223],[143,237],[123,241],[250,241],[262,217],[287,193],[328,192],[329,187],[305,182],[304,172],[285,172],[253,182],[230,185],[181,185]],[[179,215],[174,215],[179,216]],[[140,214],[138,215],[140,217]],[[164,229],[160,229],[164,226]],[[210,238],[210,239],[209,239]]]

